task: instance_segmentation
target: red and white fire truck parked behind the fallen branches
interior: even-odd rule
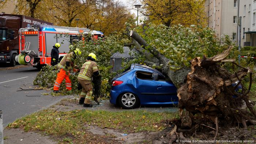
[[[33,65],[38,69],[50,64],[51,50],[60,43],[59,59],[69,52],[69,45],[83,39],[82,35],[91,33],[93,39],[103,38],[100,31],[77,27],[34,25],[19,30],[19,52],[15,61],[21,65]]]

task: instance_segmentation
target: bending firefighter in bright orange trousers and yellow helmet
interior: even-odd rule
[[[57,74],[56,82],[54,83],[53,92],[58,93],[60,85],[62,81],[66,80],[66,89],[70,91],[72,89],[71,87],[71,80],[69,79],[69,75],[73,73],[73,67],[77,67],[74,65],[74,59],[76,56],[81,55],[81,50],[76,48],[73,52],[67,53],[60,63],[58,64],[59,73]]]

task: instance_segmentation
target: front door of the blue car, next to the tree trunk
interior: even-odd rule
[[[166,81],[158,73],[154,73],[155,96],[157,102],[175,102],[178,101],[177,88],[172,82]]]

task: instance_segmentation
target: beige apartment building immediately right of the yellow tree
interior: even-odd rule
[[[208,27],[216,31],[216,36],[229,35],[237,41],[238,0],[206,0],[204,4],[208,16]]]

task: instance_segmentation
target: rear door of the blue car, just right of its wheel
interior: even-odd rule
[[[135,75],[135,88],[138,91],[141,104],[150,104],[156,101],[153,72],[136,71]]]

